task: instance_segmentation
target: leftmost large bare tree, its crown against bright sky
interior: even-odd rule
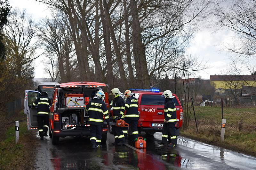
[[[7,57],[12,60],[10,67],[18,77],[33,76],[33,60],[42,55],[36,55],[36,32],[37,24],[25,10],[12,10],[4,28],[4,42]]]

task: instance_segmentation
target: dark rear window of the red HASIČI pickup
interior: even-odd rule
[[[176,98],[173,99],[175,105],[180,105]],[[164,105],[164,97],[161,95],[142,95],[141,102],[142,105]]]

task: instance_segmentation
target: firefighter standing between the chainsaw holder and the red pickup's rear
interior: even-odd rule
[[[124,92],[125,97],[125,122],[129,124],[130,130],[132,131],[133,142],[138,139],[138,99],[134,97],[134,93],[131,90],[126,90]]]

